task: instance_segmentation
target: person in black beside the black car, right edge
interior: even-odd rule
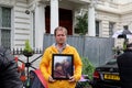
[[[117,58],[121,88],[132,88],[132,43],[127,45],[127,50]]]

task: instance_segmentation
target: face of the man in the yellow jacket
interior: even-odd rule
[[[64,31],[56,31],[55,40],[57,44],[64,44],[66,42],[66,34]]]

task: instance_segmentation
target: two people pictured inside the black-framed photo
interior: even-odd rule
[[[69,79],[70,76],[73,76],[72,59],[66,58],[54,64],[53,78]]]

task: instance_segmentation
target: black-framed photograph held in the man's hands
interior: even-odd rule
[[[73,61],[72,54],[53,54],[52,77],[54,79],[69,79],[74,75]]]

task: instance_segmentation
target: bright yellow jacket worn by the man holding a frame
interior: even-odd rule
[[[58,50],[52,45],[47,47],[43,54],[42,62],[40,65],[41,72],[47,81],[48,88],[75,88],[76,82],[69,82],[68,80],[56,80],[55,82],[48,82],[48,77],[52,75],[52,55],[59,54]],[[66,45],[62,54],[73,54],[74,55],[74,77],[78,81],[81,77],[82,63],[77,53],[77,50],[70,45]]]

